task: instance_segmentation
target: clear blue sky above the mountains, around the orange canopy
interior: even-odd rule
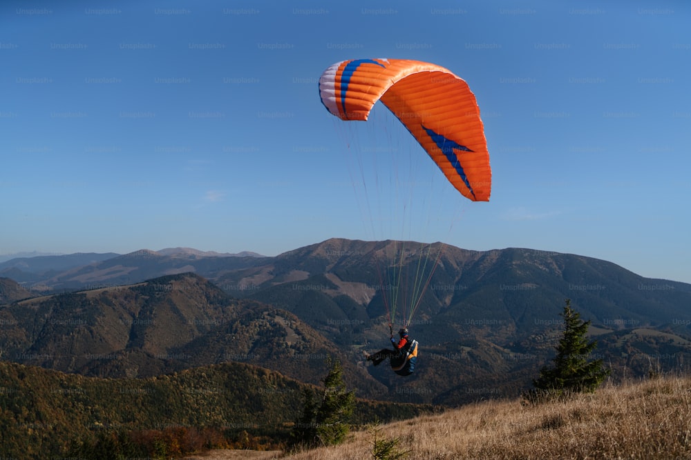
[[[363,221],[410,153],[406,236],[691,282],[690,24],[687,1],[3,1],[0,254],[398,238]],[[489,203],[455,201],[385,108],[328,114],[319,76],[354,58],[468,82]]]

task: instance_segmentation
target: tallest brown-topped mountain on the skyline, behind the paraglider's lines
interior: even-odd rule
[[[351,320],[350,326],[357,328],[368,320],[386,321],[377,271],[397,245],[332,239],[214,281],[238,287],[230,291],[238,297],[295,312],[339,341],[328,326]],[[429,248],[437,253],[438,245]],[[688,317],[691,285],[646,279],[614,263],[574,254],[445,246],[413,324],[428,343],[452,340],[458,328],[488,339],[522,340],[557,322],[566,298],[583,317],[608,328],[632,323],[659,327]],[[312,314],[310,305],[328,314]],[[333,321],[327,324],[329,318]]]

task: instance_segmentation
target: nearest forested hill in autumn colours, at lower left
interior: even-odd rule
[[[276,443],[299,417],[305,388],[243,363],[148,379],[98,379],[0,362],[0,455],[66,458],[73,441],[171,427],[212,428],[231,439],[242,432],[268,435]],[[354,421],[403,419],[428,410],[360,399]]]

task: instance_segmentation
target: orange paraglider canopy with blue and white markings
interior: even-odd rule
[[[480,108],[468,83],[435,64],[408,59],[335,63],[319,79],[324,106],[366,121],[381,100],[464,197],[489,201],[492,172]]]

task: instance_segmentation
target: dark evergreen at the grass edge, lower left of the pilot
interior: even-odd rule
[[[303,394],[303,413],[291,432],[290,445],[332,446],[345,441],[348,419],[355,406],[354,390],[346,390],[343,368],[338,359],[327,359],[328,374],[322,380],[321,403],[312,390]]]

